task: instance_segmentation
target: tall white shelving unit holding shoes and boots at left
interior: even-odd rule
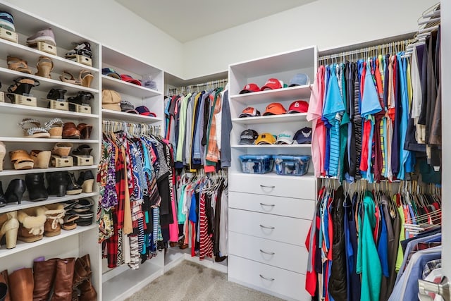
[[[39,81],[39,86],[33,87],[31,94],[37,98],[37,106],[23,106],[20,104],[11,104],[8,97],[5,95],[5,102],[0,103],[0,118],[2,127],[0,128],[0,141],[6,145],[6,156],[4,159],[4,170],[0,171],[0,181],[6,190],[8,183],[13,178],[25,178],[25,175],[30,173],[52,173],[56,171],[70,171],[78,178],[80,171],[91,170],[92,173],[97,173],[97,164],[99,161],[99,142],[101,137],[101,121],[100,121],[100,44],[88,37],[83,37],[68,30],[64,27],[56,25],[44,20],[32,13],[23,11],[20,8],[12,6],[0,0],[0,11],[7,11],[14,17],[14,25],[16,33],[18,34],[18,43],[0,39],[0,79],[1,91],[7,92],[7,89],[14,82],[13,80],[20,77],[33,78]],[[48,54],[47,52],[39,51],[27,47],[26,39],[39,30],[44,30],[51,27],[56,40],[57,55]],[[70,61],[64,58],[67,51],[73,49],[80,42],[89,42],[92,49],[92,66],[86,66],[75,61]],[[16,70],[8,69],[7,56],[16,56],[24,61],[27,61],[28,68],[32,74],[21,73]],[[47,56],[54,63],[54,68],[51,70],[51,78],[42,78],[37,73],[37,62],[39,56]],[[60,80],[60,75],[63,70],[71,73],[74,78],[78,78],[80,70],[89,70],[93,75],[91,87],[82,87],[72,85]],[[59,88],[67,90],[65,99],[75,96],[80,91],[91,92],[94,99],[91,100],[91,113],[75,113],[72,111],[61,111],[49,109],[47,106],[49,102],[47,94],[52,88]],[[91,137],[89,140],[66,140],[66,139],[39,139],[23,137],[23,130],[18,123],[23,118],[35,118],[41,122],[42,125],[52,118],[61,118],[64,123],[73,122],[87,123],[93,126]],[[30,152],[32,149],[51,150],[56,142],[70,142],[73,143],[73,149],[81,144],[88,144],[92,147],[92,156],[94,156],[94,164],[90,166],[73,166],[68,168],[33,168],[30,170],[14,170],[10,162],[8,152],[16,149],[25,149]],[[46,186],[48,185],[46,180]],[[66,195],[64,197],[49,196],[47,200],[39,202],[28,201],[27,192],[23,195],[23,200],[20,204],[7,204],[0,208],[0,214],[9,211],[16,211],[20,209],[37,207],[46,204],[53,204],[63,202],[70,199],[78,199],[82,197],[92,197],[97,200],[98,188],[94,185],[94,192],[82,193],[80,195]],[[92,211],[97,209],[94,207]],[[95,219],[95,218],[94,218]],[[98,227],[93,219],[90,226],[78,226],[72,231],[61,231],[60,235],[54,237],[44,237],[37,242],[17,242],[15,248],[7,250],[6,246],[2,245],[0,248],[0,266],[2,269],[8,269],[11,273],[15,269],[22,266],[31,267],[33,259],[39,256],[44,256],[46,259],[52,257],[82,257],[89,254],[91,259],[92,269],[92,283],[97,292],[101,288],[101,262],[99,259],[99,245],[97,244]]]

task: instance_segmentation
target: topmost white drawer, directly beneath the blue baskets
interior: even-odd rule
[[[229,191],[316,199],[316,178],[314,176],[277,176],[232,173],[229,176]]]

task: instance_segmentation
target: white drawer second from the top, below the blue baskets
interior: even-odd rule
[[[315,201],[230,191],[228,207],[311,220],[315,210]]]

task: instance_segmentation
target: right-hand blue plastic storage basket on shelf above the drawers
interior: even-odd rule
[[[284,176],[303,176],[309,170],[309,155],[274,155],[276,173]]]

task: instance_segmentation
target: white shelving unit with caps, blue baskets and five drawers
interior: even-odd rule
[[[228,280],[290,300],[307,300],[304,291],[307,250],[303,245],[316,199],[313,166],[304,176],[242,173],[242,154],[311,154],[311,145],[240,145],[246,129],[277,136],[296,133],[306,126],[307,113],[238,118],[251,106],[263,115],[278,102],[288,110],[310,97],[310,85],[239,94],[245,85],[263,86],[269,78],[288,84],[297,73],[314,79],[317,49],[306,47],[229,66],[230,135],[232,166],[229,171]],[[288,233],[297,233],[288,235]]]

